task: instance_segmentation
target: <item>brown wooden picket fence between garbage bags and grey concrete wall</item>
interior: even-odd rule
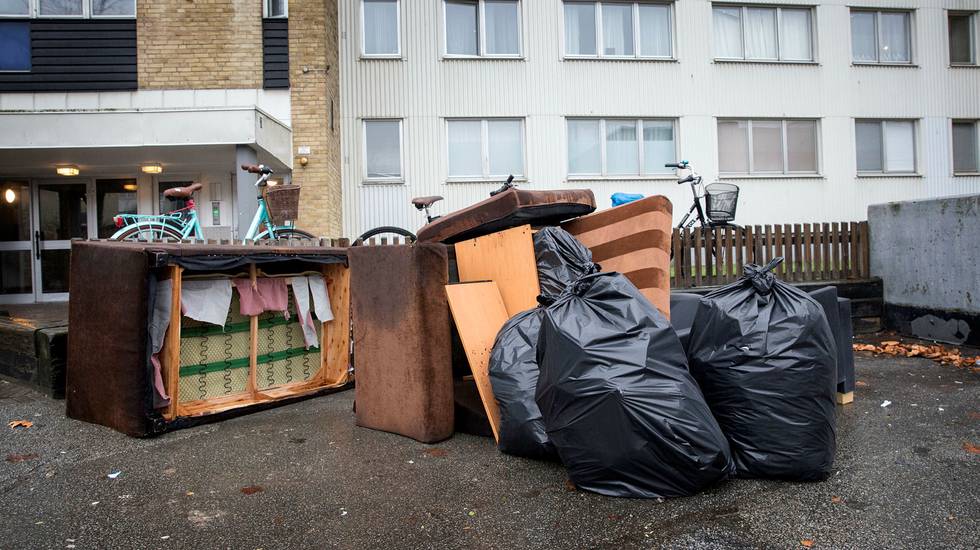
[[[779,256],[787,282],[870,278],[868,222],[675,228],[672,246],[671,288],[724,285]]]

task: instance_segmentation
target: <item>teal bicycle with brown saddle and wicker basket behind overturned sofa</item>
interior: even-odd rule
[[[267,187],[266,182],[272,175],[271,168],[261,164],[243,164],[242,170],[251,174],[260,174],[258,181],[255,182],[255,186],[260,190],[258,197],[256,197],[259,207],[255,212],[255,217],[252,218],[248,232],[245,233],[243,242],[264,240],[308,241],[316,238],[306,231],[293,227],[291,221],[285,221],[282,225],[273,222],[273,217],[281,218],[282,216],[270,217],[269,206],[261,192]],[[165,190],[163,196],[185,201],[183,208],[166,214],[117,214],[112,220],[119,230],[110,238],[117,241],[203,240],[204,231],[201,229],[201,221],[198,219],[196,205],[194,204],[194,193],[202,187],[203,185],[200,183],[193,183],[187,187],[174,187]],[[282,193],[292,187],[284,186],[276,192]],[[270,187],[270,189],[272,188]],[[298,190],[298,188],[291,189],[293,192],[298,192]],[[296,199],[295,202],[298,202],[298,196]],[[295,213],[291,217],[295,217]]]

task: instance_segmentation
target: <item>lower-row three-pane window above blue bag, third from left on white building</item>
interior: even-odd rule
[[[568,119],[569,176],[670,174],[676,157],[671,119]]]

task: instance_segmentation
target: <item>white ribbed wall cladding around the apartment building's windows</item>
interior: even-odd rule
[[[809,2],[753,2],[774,5]],[[563,60],[560,0],[524,0],[521,60],[444,60],[439,0],[402,0],[398,60],[360,59],[359,0],[340,0],[344,229],[418,228],[409,198],[442,195],[447,213],[498,183],[447,184],[445,118],[524,117],[528,188],[587,186],[601,208],[616,191],[664,194],[679,218],[688,187],[671,180],[569,181],[566,116],[673,117],[680,158],[717,179],[716,117],[820,119],[816,178],[739,178],[743,224],[861,220],[869,204],[980,192],[980,177],[953,177],[949,119],[980,118],[980,69],[950,68],[947,9],[980,0],[866,0],[862,7],[915,8],[912,67],[852,66],[845,0],[815,9],[816,62],[713,61],[711,3],[675,3],[676,62]],[[404,185],[363,185],[361,120],[401,118]],[[856,177],[854,118],[917,120],[919,177]]]

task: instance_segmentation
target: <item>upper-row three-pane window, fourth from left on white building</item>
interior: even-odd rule
[[[746,61],[813,61],[810,8],[713,8],[715,58]]]

